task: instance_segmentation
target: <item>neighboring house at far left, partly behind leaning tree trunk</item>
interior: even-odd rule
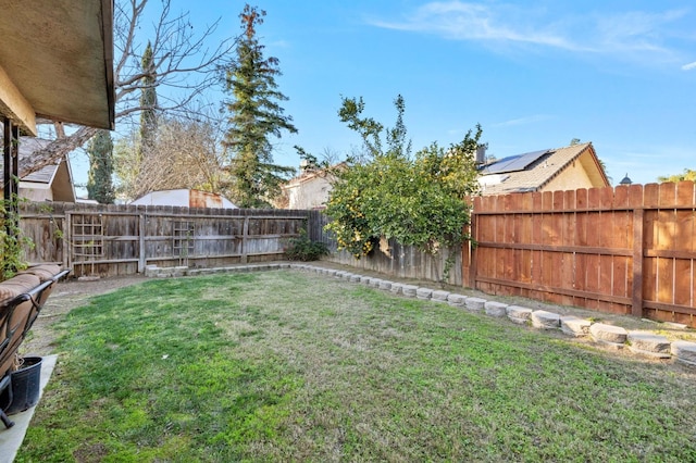
[[[2,137],[0,137],[0,142]],[[20,138],[20,163],[32,157],[34,151],[45,148],[50,140],[32,137]],[[3,167],[0,157],[0,170]],[[44,190],[44,192],[38,192]],[[20,178],[20,196],[34,201],[51,200],[75,202],[73,173],[67,158],[58,164],[49,164]]]

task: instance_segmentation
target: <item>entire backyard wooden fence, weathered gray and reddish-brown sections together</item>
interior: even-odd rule
[[[473,199],[476,246],[455,251],[447,283],[696,327],[694,183],[631,185]],[[217,266],[282,258],[306,229],[328,261],[400,278],[439,280],[438,258],[383,240],[368,258],[337,252],[321,211],[210,210],[54,203],[25,207],[29,261],[75,275],[148,264]]]

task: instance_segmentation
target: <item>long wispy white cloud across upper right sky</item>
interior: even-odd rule
[[[667,43],[678,36],[675,25],[685,10],[663,12],[629,11],[572,14],[505,3],[465,1],[430,2],[402,21],[373,21],[371,24],[396,30],[439,35],[450,40],[538,46],[643,59],[651,53],[674,59]],[[683,38],[683,37],[682,37]],[[693,40],[692,40],[693,41]]]

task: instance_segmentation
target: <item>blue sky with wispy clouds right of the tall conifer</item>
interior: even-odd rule
[[[244,2],[208,1],[195,27],[222,17],[240,32]],[[266,57],[297,135],[274,160],[297,166],[293,146],[344,154],[359,138],[337,116],[362,97],[365,115],[394,124],[406,100],[414,150],[461,140],[480,123],[497,158],[592,141],[617,184],[696,168],[696,3],[582,1],[259,1]]]

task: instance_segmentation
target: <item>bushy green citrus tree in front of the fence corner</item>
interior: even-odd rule
[[[394,104],[394,128],[363,117],[362,99],[344,98],[338,112],[341,122],[360,134],[368,155],[335,173],[326,208],[332,222],[326,228],[336,235],[339,249],[358,259],[382,237],[431,254],[469,239],[464,225],[470,223],[470,205],[464,198],[477,191],[481,126],[456,145],[443,148],[433,142],[412,155],[403,98],[397,97]]]

